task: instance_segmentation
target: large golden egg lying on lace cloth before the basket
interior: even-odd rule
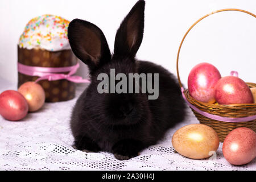
[[[192,124],[181,127],[172,136],[172,146],[191,159],[209,158],[217,151],[220,140],[216,131],[207,125]]]

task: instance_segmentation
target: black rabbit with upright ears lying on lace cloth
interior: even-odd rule
[[[91,83],[73,108],[71,129],[75,148],[108,151],[127,160],[155,144],[165,132],[185,117],[185,104],[177,79],[160,65],[138,61],[135,55],[142,43],[143,0],[138,1],[117,30],[111,55],[100,28],[74,19],[68,39],[75,55],[88,65]],[[160,49],[160,47],[158,47]],[[148,93],[98,93],[100,73],[159,73],[159,97],[148,100]]]

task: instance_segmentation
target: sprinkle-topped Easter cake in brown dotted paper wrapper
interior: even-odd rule
[[[55,15],[31,19],[18,43],[18,63],[31,67],[61,68],[77,63],[67,38],[69,21]],[[68,72],[63,72],[67,74]],[[39,77],[18,73],[18,86]],[[75,83],[66,79],[38,81],[46,92],[46,102],[67,101],[75,97]]]

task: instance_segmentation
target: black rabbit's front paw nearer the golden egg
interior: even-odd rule
[[[125,139],[115,143],[112,147],[113,154],[118,160],[128,160],[139,155],[142,143],[139,140]]]

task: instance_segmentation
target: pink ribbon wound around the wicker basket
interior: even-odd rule
[[[238,77],[238,72],[232,71],[230,73],[230,75]],[[188,102],[187,98],[185,97],[184,88],[183,87],[181,87],[181,93],[182,93],[182,97],[184,98],[185,102],[187,102],[187,104],[193,110],[197,111],[197,113],[199,113],[201,115],[204,115],[207,118],[214,119],[214,120],[217,120],[217,121],[233,122],[233,123],[253,121],[254,119],[256,119],[256,115],[251,115],[249,117],[242,117],[242,118],[228,118],[228,117],[221,117],[220,115],[209,114],[207,112],[201,111],[196,106],[194,106],[190,102]]]

